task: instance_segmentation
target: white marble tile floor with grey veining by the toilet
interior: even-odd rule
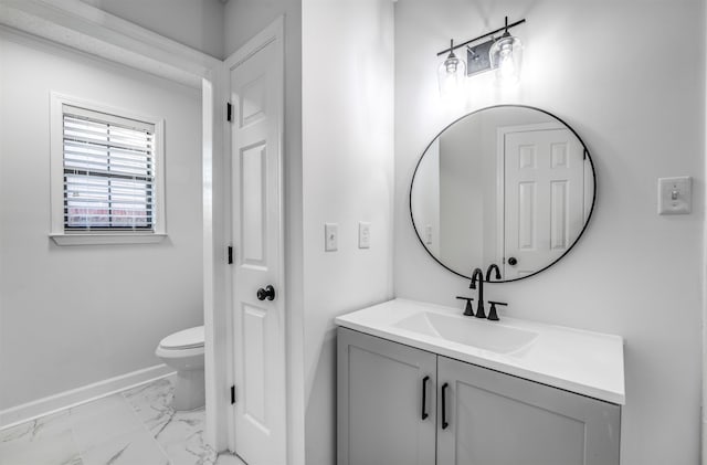
[[[175,412],[172,377],[0,430],[0,465],[245,465],[203,442],[204,410]]]

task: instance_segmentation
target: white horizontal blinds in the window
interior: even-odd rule
[[[64,230],[152,231],[155,126],[63,105]]]

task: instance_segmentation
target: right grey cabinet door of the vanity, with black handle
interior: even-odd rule
[[[437,465],[618,465],[620,406],[439,357]]]

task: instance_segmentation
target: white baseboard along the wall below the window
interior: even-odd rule
[[[54,413],[59,410],[68,409],[71,406],[104,398],[159,378],[168,377],[172,373],[175,373],[175,370],[165,363],[156,364],[155,367],[133,371],[130,373],[98,381],[93,384],[72,389],[71,391],[60,392],[59,394],[28,402],[22,405],[12,406],[0,411],[0,430],[14,426],[18,423],[23,423],[29,420],[34,420],[49,413]]]

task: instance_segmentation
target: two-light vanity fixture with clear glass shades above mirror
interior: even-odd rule
[[[523,44],[516,36],[510,35],[509,29],[526,22],[525,19],[508,24],[503,28],[487,32],[486,34],[471,39],[458,45],[454,45],[454,41],[450,42],[450,47],[437,53],[442,56],[449,53],[446,60],[437,70],[437,78],[440,80],[440,93],[449,94],[451,91],[458,88],[464,81],[461,74],[465,68],[466,76],[472,76],[489,70],[496,70],[496,78],[500,85],[515,84],[520,76],[520,65],[523,63]],[[494,35],[503,32],[500,38],[495,39]],[[482,39],[489,40],[477,43]],[[460,60],[454,53],[455,50],[466,47],[466,63]]]

